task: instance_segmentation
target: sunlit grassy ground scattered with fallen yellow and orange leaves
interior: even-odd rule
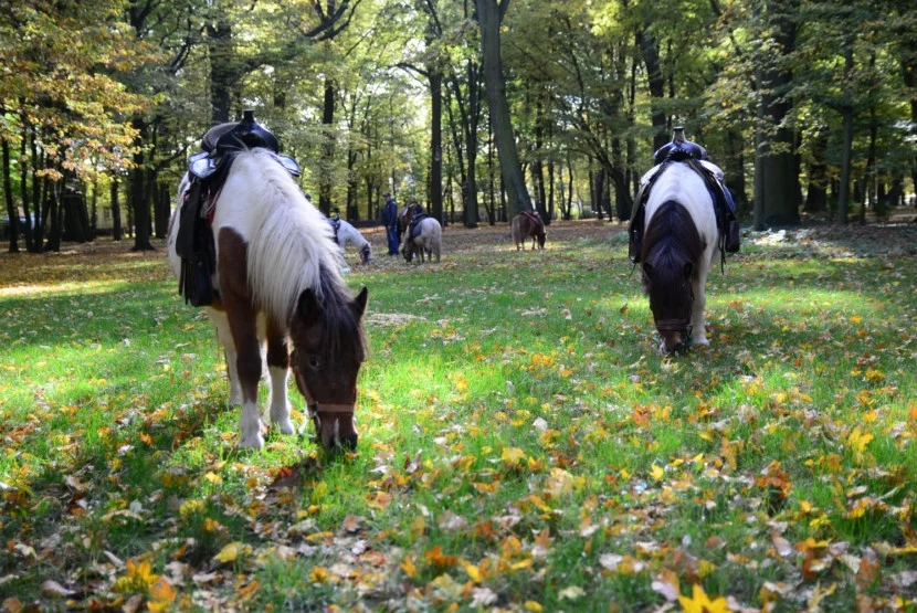
[[[914,611],[917,224],[746,233],[656,352],[624,226],[444,231],[369,288],[360,443],[238,451],[129,241],[0,255],[0,607]],[[705,609],[706,607],[706,609]]]

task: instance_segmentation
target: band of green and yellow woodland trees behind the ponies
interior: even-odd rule
[[[0,11],[8,216],[55,249],[66,187],[126,186],[145,249],[203,131],[253,108],[351,220],[384,191],[468,226],[626,220],[675,125],[757,228],[862,220],[917,177],[915,34],[877,0],[27,0]]]

